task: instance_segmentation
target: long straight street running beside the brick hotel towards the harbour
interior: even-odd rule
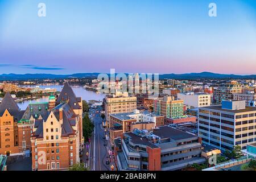
[[[89,154],[89,160],[86,160],[86,166],[89,166],[92,171],[110,171],[112,165],[115,170],[114,158],[112,155],[109,155],[112,147],[109,140],[106,140],[108,139],[106,137],[108,131],[105,131],[102,127],[101,110],[101,107],[89,110],[89,116],[94,123],[94,132],[92,133],[88,150],[85,148],[85,154],[86,152]],[[106,164],[106,160],[109,161],[109,164]]]

